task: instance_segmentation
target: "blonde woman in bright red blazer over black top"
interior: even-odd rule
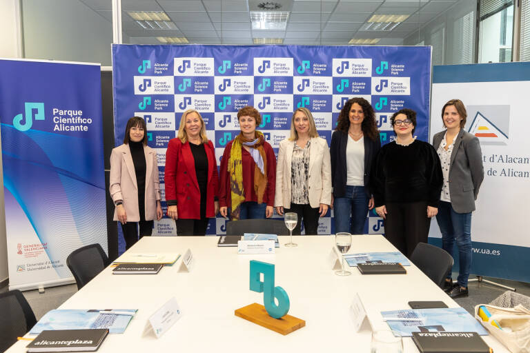
[[[182,114],[177,138],[169,141],[164,181],[177,235],[205,235],[208,219],[219,211],[219,179],[215,149],[197,110]]]

